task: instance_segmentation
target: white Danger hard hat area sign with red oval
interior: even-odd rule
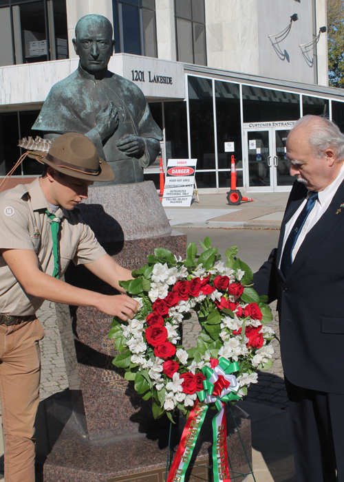
[[[197,159],[169,159],[162,206],[191,206]]]

